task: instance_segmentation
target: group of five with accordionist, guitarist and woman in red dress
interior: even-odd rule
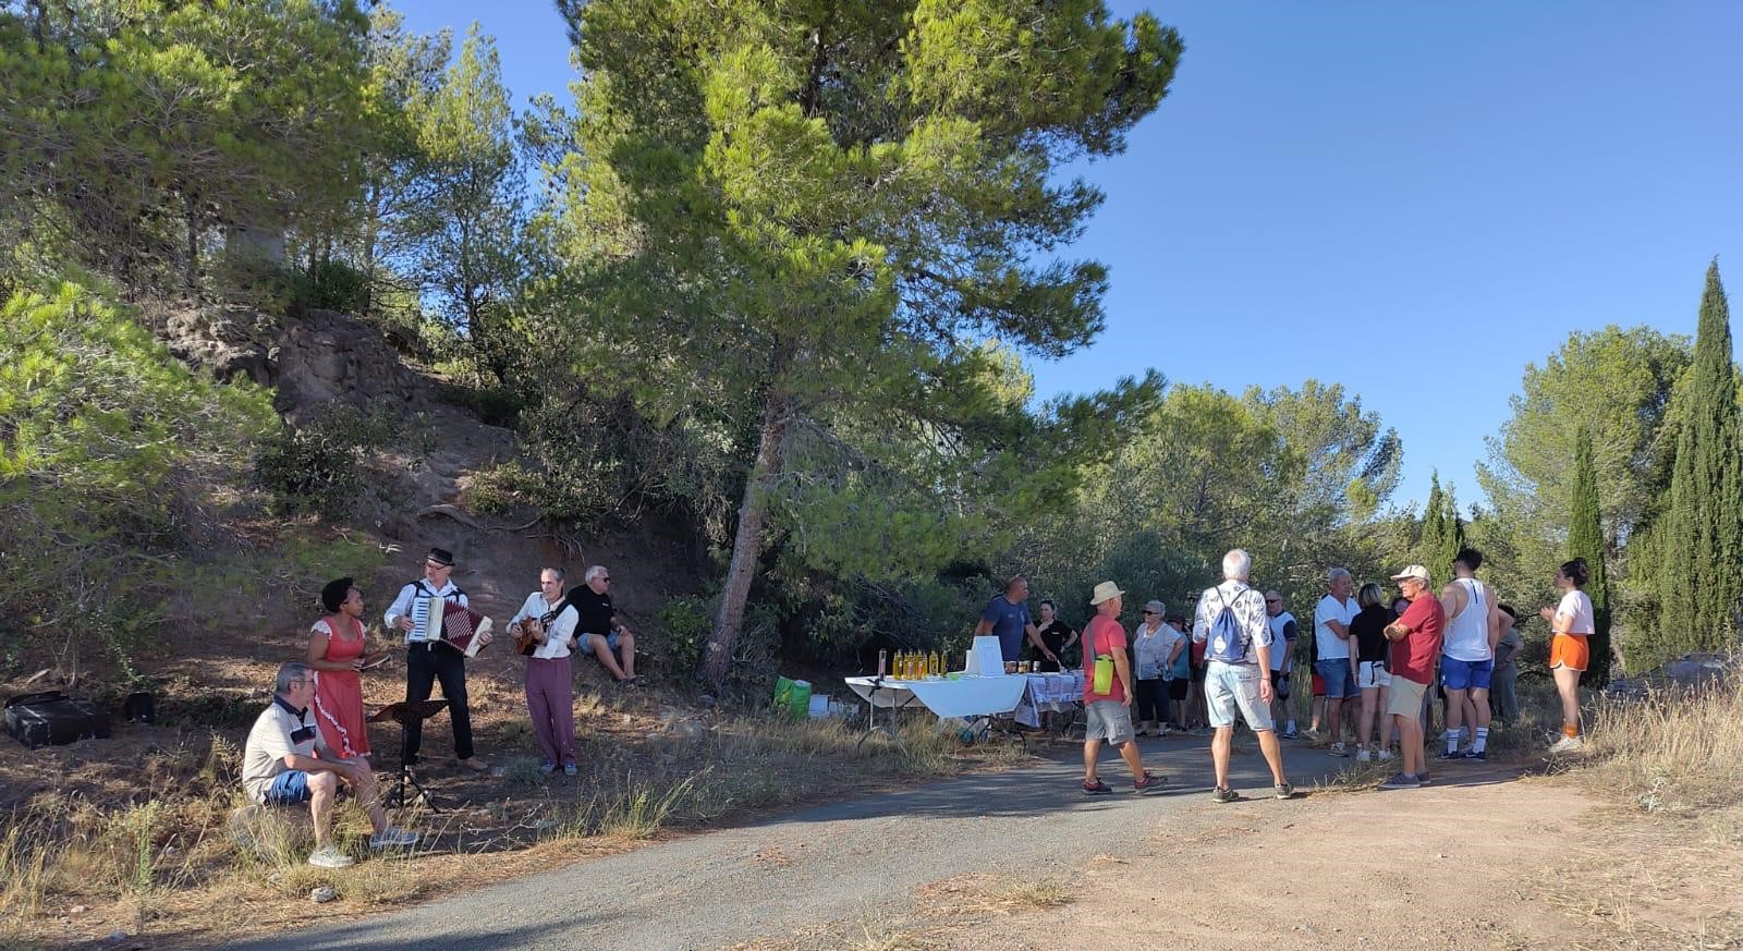
[[[453,726],[451,765],[488,770],[490,765],[472,745],[467,653],[444,629],[450,604],[471,608],[465,590],[450,578],[453,566],[451,552],[431,549],[422,577],[399,589],[382,622],[401,636],[406,648],[406,700],[429,700],[441,685]],[[539,590],[526,596],[507,624],[518,651],[526,657],[526,712],[544,773],[577,773],[572,655],[593,655],[619,686],[645,683],[636,674],[634,634],[612,606],[610,583],[610,571],[594,564],[580,585],[565,590],[563,570],[544,568]],[[366,650],[363,590],[352,578],[335,578],[322,587],[321,606],[326,613],[309,632],[307,655],[279,667],[272,704],[249,730],[242,751],[242,789],[263,806],[307,803],[315,833],[309,864],[345,867],[354,859],[333,843],[331,834],[333,801],[342,787],[350,789],[375,827],[371,848],[410,846],[417,843],[417,834],[387,822],[370,763],[361,678],[385,660],[387,651]],[[488,627],[476,636],[479,646],[495,639]],[[401,751],[408,766],[418,763],[422,728],[422,718],[403,721]]]

